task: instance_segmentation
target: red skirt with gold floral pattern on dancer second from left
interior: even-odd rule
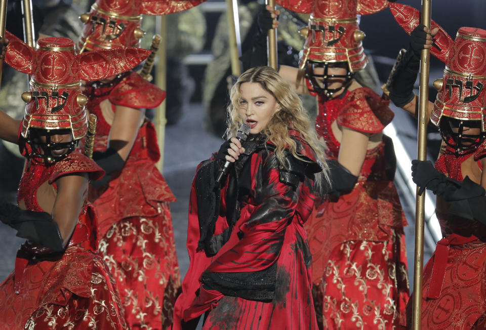
[[[158,206],[158,216],[114,223],[99,243],[131,329],[169,327],[180,288],[169,203]]]

